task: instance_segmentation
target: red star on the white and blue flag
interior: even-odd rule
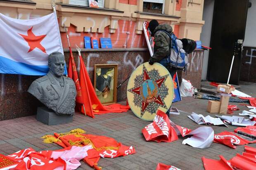
[[[40,44],[40,42],[45,38],[46,35],[38,35],[36,36],[33,32],[32,32],[32,28],[31,27],[28,30],[28,35],[23,35],[23,34],[19,34],[21,35],[24,40],[26,40],[26,42],[28,42],[28,46],[30,47],[30,49],[28,50],[28,53],[33,51],[33,49],[38,48],[41,51],[43,51],[44,53],[46,53],[45,48]]]

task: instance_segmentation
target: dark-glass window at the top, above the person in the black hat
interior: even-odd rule
[[[143,12],[164,14],[164,0],[143,0]]]

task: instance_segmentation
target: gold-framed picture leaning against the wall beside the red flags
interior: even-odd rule
[[[94,91],[102,105],[116,103],[118,64],[94,65]]]

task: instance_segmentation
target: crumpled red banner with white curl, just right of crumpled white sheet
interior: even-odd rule
[[[236,149],[235,145],[244,145],[249,143],[255,143],[256,139],[247,140],[248,137],[232,133],[232,132],[221,132],[216,135],[214,135],[213,142],[225,144],[228,147],[231,147],[233,149]]]

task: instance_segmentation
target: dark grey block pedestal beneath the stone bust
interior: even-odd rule
[[[63,123],[69,123],[73,121],[73,116],[69,115],[57,115],[52,109],[47,107],[38,107],[36,119],[47,125],[59,125]]]

